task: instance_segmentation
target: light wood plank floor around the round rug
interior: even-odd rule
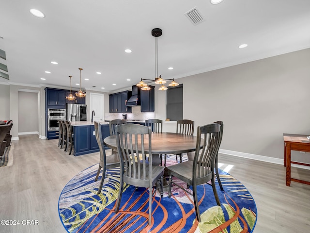
[[[0,233],[65,233],[58,215],[62,188],[81,170],[98,163],[99,153],[73,156],[61,150],[58,140],[21,135],[13,141],[13,166],[0,167],[0,220],[19,220],[2,226]],[[109,152],[109,150],[107,151]],[[252,194],[258,220],[254,233],[301,233],[310,231],[310,185],[285,185],[281,165],[219,155],[219,163],[233,165],[229,173]],[[292,168],[294,178],[310,181],[310,171]],[[37,220],[38,225],[23,225]]]

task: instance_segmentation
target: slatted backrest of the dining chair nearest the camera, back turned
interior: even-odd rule
[[[121,167],[124,167],[124,183],[148,187],[152,177],[152,166],[146,170],[146,164],[152,164],[152,156],[145,150],[152,151],[151,129],[144,125],[123,124],[116,128],[117,151],[123,156]],[[147,161],[147,157],[149,160]]]

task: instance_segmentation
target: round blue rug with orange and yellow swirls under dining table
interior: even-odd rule
[[[169,198],[166,181],[164,197],[156,193],[153,199],[153,219],[149,226],[149,190],[136,190],[126,185],[120,211],[115,214],[120,169],[108,169],[100,195],[97,190],[101,176],[94,182],[97,169],[98,164],[81,171],[62,190],[59,215],[69,233],[251,233],[254,229],[257,210],[251,194],[242,183],[222,170],[220,178],[224,191],[217,183],[221,206],[217,206],[211,185],[197,188],[202,222],[196,220],[192,196],[172,186],[173,195]],[[186,183],[174,181],[186,187]]]

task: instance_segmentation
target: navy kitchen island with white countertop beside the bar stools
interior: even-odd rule
[[[103,138],[110,135],[109,122],[99,121]],[[99,151],[95,136],[94,124],[91,121],[72,121],[73,129],[73,155],[89,154]],[[105,148],[108,149],[108,148]]]

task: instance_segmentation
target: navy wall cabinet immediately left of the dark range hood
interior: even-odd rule
[[[126,101],[131,97],[131,91],[123,91],[109,95],[110,113],[131,113],[131,107],[126,106]]]

